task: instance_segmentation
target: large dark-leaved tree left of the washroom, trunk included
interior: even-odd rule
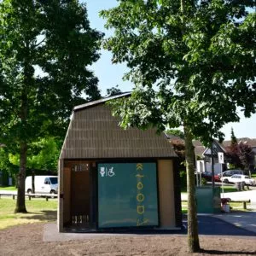
[[[83,94],[100,96],[87,67],[99,58],[101,38],[76,0],[0,3],[0,142],[20,154],[15,212],[26,212],[29,145],[39,137],[63,136]]]

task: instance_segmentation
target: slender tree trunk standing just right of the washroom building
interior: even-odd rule
[[[185,155],[187,171],[187,189],[188,189],[188,242],[189,253],[198,253],[200,251],[196,204],[195,204],[195,167],[194,167],[194,146],[192,135],[189,129],[184,126],[185,136]]]

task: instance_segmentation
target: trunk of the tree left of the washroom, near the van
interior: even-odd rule
[[[25,205],[25,178],[26,178],[26,143],[20,143],[20,171],[18,174],[18,195],[15,213],[26,212]]]

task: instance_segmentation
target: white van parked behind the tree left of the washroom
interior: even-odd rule
[[[32,176],[26,177],[26,193],[32,193]],[[35,176],[35,193],[56,194],[58,192],[57,176]]]

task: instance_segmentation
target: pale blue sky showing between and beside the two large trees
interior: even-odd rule
[[[102,9],[110,9],[116,6],[116,0],[84,0],[81,3],[86,3],[90,26],[104,32],[106,36],[111,34],[104,28],[105,20],[99,17],[98,13]],[[111,63],[112,55],[106,50],[101,51],[102,55],[99,61],[92,65],[91,69],[95,72],[99,79],[99,88],[102,90],[102,96],[106,95],[106,90],[117,84],[122,91],[130,91],[132,84],[129,81],[123,81],[122,77],[128,71],[125,64]],[[251,137],[256,138],[256,114],[250,119],[245,119],[240,113],[241,120],[239,123],[230,123],[224,125],[221,130],[225,134],[225,139],[230,139],[231,127],[233,127],[236,137]]]

